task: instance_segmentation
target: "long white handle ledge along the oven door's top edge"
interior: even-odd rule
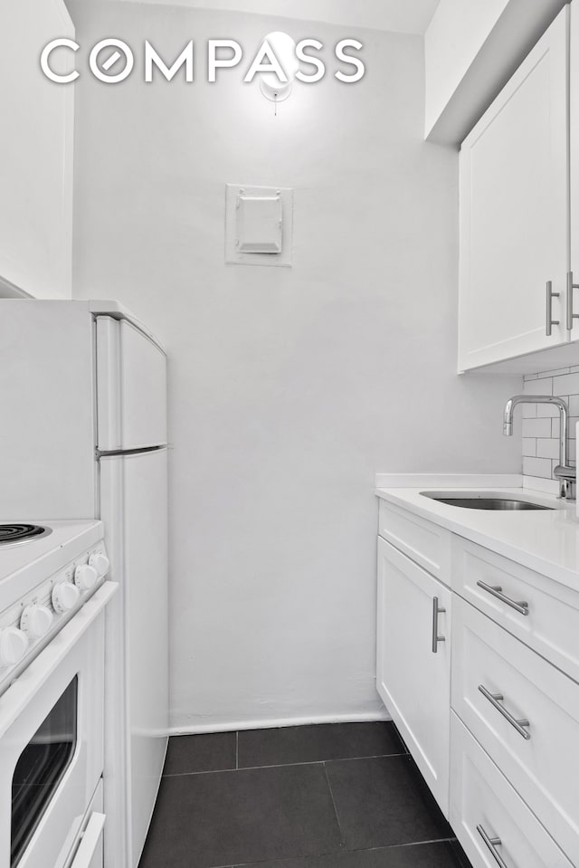
[[[105,582],[101,585],[68,624],[62,627],[61,632],[54,636],[52,642],[47,644],[24,672],[14,679],[0,702],[0,738],[10,729],[14,721],[18,720],[46,679],[58,668],[67,654],[71,653],[81,636],[87,632],[118,590],[119,585],[116,582]]]

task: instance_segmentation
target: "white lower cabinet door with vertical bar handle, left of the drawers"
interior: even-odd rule
[[[449,812],[451,591],[378,539],[377,688]]]

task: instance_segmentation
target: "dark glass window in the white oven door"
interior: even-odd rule
[[[62,775],[71,764],[77,741],[75,676],[20,755],[12,779],[10,868],[24,855]]]

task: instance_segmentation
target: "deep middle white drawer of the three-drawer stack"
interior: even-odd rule
[[[579,865],[579,685],[459,596],[452,612],[452,709]]]

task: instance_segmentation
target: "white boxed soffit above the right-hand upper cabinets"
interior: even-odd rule
[[[459,144],[568,0],[441,0],[424,36],[425,135]]]

